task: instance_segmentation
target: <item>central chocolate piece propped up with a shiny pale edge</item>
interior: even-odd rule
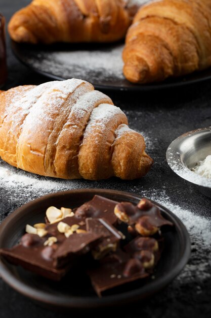
[[[104,218],[87,218],[86,225],[87,231],[102,236],[92,249],[95,260],[103,258],[109,251],[115,251],[118,242],[124,239],[124,235]]]

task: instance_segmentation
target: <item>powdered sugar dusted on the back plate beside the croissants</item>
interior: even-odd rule
[[[31,52],[23,56],[24,61],[41,72],[62,78],[84,78],[87,81],[123,80],[123,44],[94,45],[92,49],[71,48],[60,51]],[[90,48],[90,47],[89,47]],[[96,49],[94,49],[96,48]]]

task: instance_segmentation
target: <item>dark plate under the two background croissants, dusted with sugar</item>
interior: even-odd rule
[[[19,44],[12,41],[16,57],[26,66],[56,80],[81,78],[98,89],[157,90],[197,83],[211,78],[211,68],[164,82],[138,85],[122,74],[123,43],[53,44],[49,46]]]

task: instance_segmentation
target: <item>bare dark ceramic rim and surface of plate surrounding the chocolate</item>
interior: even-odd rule
[[[141,196],[104,189],[69,190],[41,197],[31,201],[8,216],[0,228],[0,248],[12,247],[24,234],[26,224],[43,222],[46,209],[53,205],[60,208],[77,207],[101,195],[116,201],[138,203]],[[175,225],[171,232],[164,234],[164,250],[156,267],[154,279],[145,284],[139,283],[136,288],[124,290],[117,294],[99,299],[92,289],[89,279],[77,275],[61,282],[52,282],[32,274],[21,267],[9,264],[3,258],[0,260],[0,274],[12,288],[25,296],[50,307],[63,308],[96,308],[126,304],[142,300],[162,290],[186,265],[190,256],[189,235],[182,222],[166,208],[160,206],[162,215]],[[82,284],[81,284],[82,282]]]

